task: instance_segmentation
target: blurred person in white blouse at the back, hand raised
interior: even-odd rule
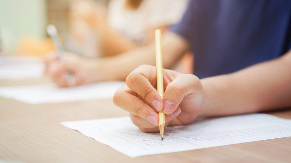
[[[87,57],[116,55],[153,40],[156,28],[177,23],[188,0],[110,0],[108,7],[89,0],[71,5],[71,33]]]

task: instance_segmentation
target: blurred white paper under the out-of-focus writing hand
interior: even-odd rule
[[[70,88],[59,88],[54,84],[0,87],[0,96],[29,104],[72,102],[89,99],[112,98],[124,82],[98,82]]]

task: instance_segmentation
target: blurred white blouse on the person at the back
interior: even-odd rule
[[[126,0],[111,0],[107,22],[138,44],[148,42],[149,30],[178,23],[188,0],[143,0],[136,10],[126,9]]]

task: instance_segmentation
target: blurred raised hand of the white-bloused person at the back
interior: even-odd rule
[[[81,19],[92,28],[98,28],[106,21],[106,8],[100,3],[77,0],[72,3],[70,10],[73,21]]]

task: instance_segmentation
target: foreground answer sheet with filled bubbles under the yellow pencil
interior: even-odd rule
[[[291,136],[291,120],[261,113],[203,119],[190,125],[166,127],[163,141],[159,133],[141,132],[129,117],[68,121],[61,124],[129,157]]]

